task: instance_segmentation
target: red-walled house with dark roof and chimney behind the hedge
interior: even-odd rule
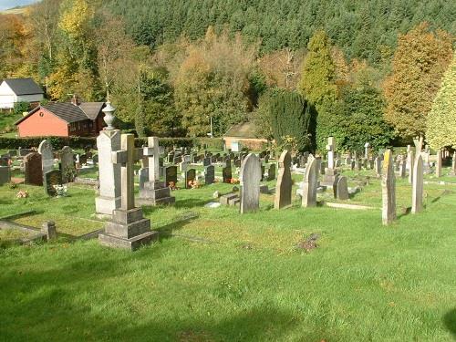
[[[24,137],[95,137],[105,126],[101,111],[104,102],[54,102],[38,106],[16,122],[20,138]]]

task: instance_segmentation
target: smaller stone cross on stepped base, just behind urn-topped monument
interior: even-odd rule
[[[145,179],[142,188],[140,187],[138,203],[144,205],[157,205],[175,202],[176,199],[171,196],[171,189],[166,184],[166,181],[160,181],[162,159],[160,157],[159,139],[157,137],[149,137],[148,147],[143,148],[142,154],[142,160],[144,164],[147,164],[148,166],[145,168],[145,170],[147,170],[147,178]]]

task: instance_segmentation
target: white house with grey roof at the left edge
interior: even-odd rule
[[[0,109],[13,109],[16,102],[43,100],[44,91],[32,78],[7,78],[0,84]]]

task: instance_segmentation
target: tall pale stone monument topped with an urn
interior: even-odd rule
[[[103,112],[108,127],[101,130],[97,138],[99,192],[95,208],[98,214],[104,215],[112,215],[113,210],[120,208],[120,164],[111,162],[112,151],[120,150],[120,130],[112,127],[115,110],[107,102]]]

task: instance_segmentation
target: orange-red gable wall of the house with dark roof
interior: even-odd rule
[[[38,109],[22,121],[18,127],[19,137],[68,136],[67,122],[46,109]]]

